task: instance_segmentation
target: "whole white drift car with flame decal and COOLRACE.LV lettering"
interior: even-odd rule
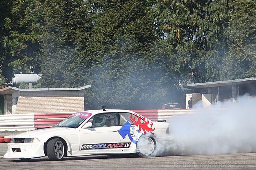
[[[151,121],[129,110],[88,110],[72,114],[54,127],[15,135],[4,158],[30,159],[94,154],[154,156],[157,136],[169,133],[166,122]]]

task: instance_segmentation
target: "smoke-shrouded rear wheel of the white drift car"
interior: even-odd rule
[[[136,153],[140,157],[152,157],[155,154],[157,148],[155,138],[153,135],[142,135],[136,146]]]

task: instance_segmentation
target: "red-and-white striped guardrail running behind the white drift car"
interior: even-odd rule
[[[173,115],[192,113],[191,109],[132,111],[151,120],[167,119]],[[75,112],[0,115],[0,132],[16,130],[28,131],[37,129],[38,127],[54,126],[73,113]]]

